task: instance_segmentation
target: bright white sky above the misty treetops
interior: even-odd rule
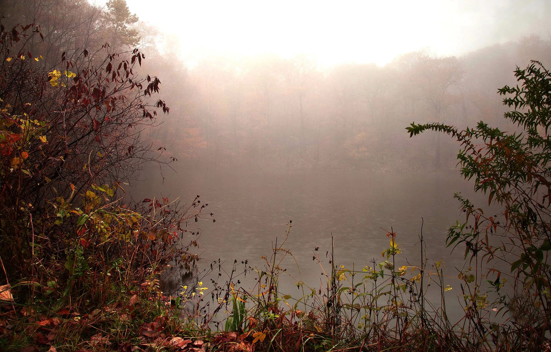
[[[140,20],[177,36],[185,57],[309,54],[327,66],[386,64],[429,48],[460,55],[537,33],[551,37],[551,1],[127,0]]]

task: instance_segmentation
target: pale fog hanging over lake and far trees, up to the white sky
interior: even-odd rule
[[[2,5],[4,23],[36,18],[21,3],[15,13]],[[128,26],[145,53],[140,72],[159,77],[170,107],[143,138],[177,159],[161,171],[146,165],[130,193],[201,195],[214,215],[189,224],[201,233],[199,270],[218,258],[262,265],[291,219],[288,245],[314,286],[312,251],[329,250],[331,235],[336,261],[361,268],[381,260],[392,229],[402,265],[419,260],[422,223],[429,262],[461,268],[462,253],[445,246],[447,228],[464,219],[453,193],[479,206],[487,199],[460,177],[457,141],[410,139],[405,128],[484,120],[514,130],[498,89],[532,59],[551,67],[548,1],[127,5],[139,18]]]

